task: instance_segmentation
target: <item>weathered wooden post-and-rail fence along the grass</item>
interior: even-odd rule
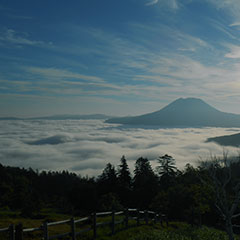
[[[97,221],[98,218],[110,216],[110,221],[99,222]],[[122,216],[122,219],[117,220],[117,216]],[[124,229],[129,227],[129,220],[136,221],[136,225],[139,226],[140,224],[149,224],[160,222],[163,226],[163,221],[166,222],[168,226],[167,217],[163,214],[158,214],[153,211],[139,211],[138,209],[126,209],[124,211],[111,211],[111,212],[100,212],[100,213],[92,213],[88,217],[80,218],[80,219],[67,219],[58,222],[47,222],[45,221],[40,227],[38,228],[23,228],[22,224],[13,225],[11,224],[8,228],[0,229],[1,232],[6,232],[9,236],[9,240],[23,240],[24,233],[33,233],[35,231],[41,231],[42,239],[43,240],[51,240],[51,239],[63,239],[69,237],[71,240],[76,240],[78,235],[81,235],[86,232],[92,231],[93,239],[97,238],[97,228],[101,226],[108,225],[111,230],[111,234],[115,234],[116,229],[115,226],[118,224],[123,224]],[[90,226],[79,231],[76,230],[76,225],[82,223]],[[69,224],[70,225],[70,232],[52,235],[49,234],[49,228],[52,226],[60,225],[60,224]]]

